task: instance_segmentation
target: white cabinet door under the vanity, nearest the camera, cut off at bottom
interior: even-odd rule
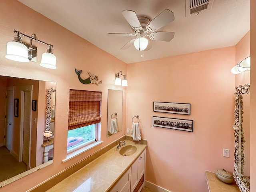
[[[118,180],[109,192],[130,192],[131,188],[131,168]]]

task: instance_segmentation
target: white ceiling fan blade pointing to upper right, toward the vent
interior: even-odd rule
[[[156,16],[152,21],[146,25],[146,29],[149,32],[154,32],[163,26],[166,26],[168,23],[174,21],[174,14],[170,10],[166,9],[158,16]]]

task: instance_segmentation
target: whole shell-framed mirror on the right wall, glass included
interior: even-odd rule
[[[235,136],[234,180],[241,192],[250,190],[250,85],[235,88]]]

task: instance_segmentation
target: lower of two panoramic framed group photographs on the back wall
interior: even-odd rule
[[[193,120],[153,116],[153,126],[193,132]]]

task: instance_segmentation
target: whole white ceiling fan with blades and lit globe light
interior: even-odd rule
[[[108,36],[136,36],[136,38],[126,43],[121,50],[125,50],[134,44],[137,50],[147,51],[152,48],[149,39],[168,42],[174,38],[174,32],[157,31],[168,23],[174,21],[174,14],[168,9],[165,9],[152,21],[146,17],[137,17],[136,13],[131,10],[122,11],[122,15],[130,24],[134,33],[108,33]]]

